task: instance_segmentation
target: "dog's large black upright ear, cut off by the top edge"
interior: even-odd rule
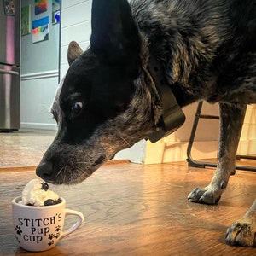
[[[126,0],[93,0],[90,49],[108,61],[120,58],[136,67],[141,40]],[[135,62],[136,61],[136,62]]]

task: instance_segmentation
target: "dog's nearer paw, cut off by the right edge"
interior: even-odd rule
[[[256,225],[236,222],[227,230],[225,241],[231,246],[256,247]]]

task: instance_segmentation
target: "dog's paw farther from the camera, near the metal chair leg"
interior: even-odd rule
[[[207,205],[215,205],[220,200],[220,195],[214,193],[211,189],[194,189],[188,196],[189,201],[207,204]]]

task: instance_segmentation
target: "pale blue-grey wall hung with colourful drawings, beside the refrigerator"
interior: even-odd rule
[[[35,15],[34,0],[21,1],[21,6],[28,4],[31,21],[49,15],[49,40],[32,44],[32,32],[21,37],[21,127],[55,129],[49,108],[59,81],[60,25],[52,25],[51,0],[47,11],[40,15]]]

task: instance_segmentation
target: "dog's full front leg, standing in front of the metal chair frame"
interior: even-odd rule
[[[219,103],[220,140],[218,165],[211,183],[203,189],[194,189],[189,201],[203,204],[218,203],[229,182],[236,165],[236,150],[241,136],[241,128],[247,105]]]

